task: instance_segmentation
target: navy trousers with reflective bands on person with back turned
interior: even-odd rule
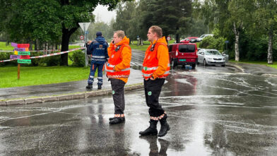
[[[103,67],[105,64],[93,64],[90,66],[90,76],[88,76],[88,84],[92,85],[94,81],[94,75],[96,68],[98,68],[98,85],[103,84]]]

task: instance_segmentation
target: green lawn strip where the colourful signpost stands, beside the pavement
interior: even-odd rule
[[[90,68],[78,68],[71,66],[21,66],[20,80],[18,80],[17,66],[0,67],[0,88],[86,80],[89,72]]]

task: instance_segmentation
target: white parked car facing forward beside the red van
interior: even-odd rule
[[[221,65],[225,66],[226,54],[220,54],[216,49],[200,49],[198,52],[198,62],[204,66],[208,65]]]

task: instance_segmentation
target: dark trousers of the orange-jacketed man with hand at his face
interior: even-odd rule
[[[124,81],[116,78],[111,78],[112,98],[114,99],[114,114],[124,114]]]

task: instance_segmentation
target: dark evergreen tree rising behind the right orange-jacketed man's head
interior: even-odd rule
[[[141,0],[140,6],[144,8],[141,27],[148,30],[151,25],[159,25],[163,35],[176,35],[179,42],[182,28],[188,28],[191,19],[191,0]]]

